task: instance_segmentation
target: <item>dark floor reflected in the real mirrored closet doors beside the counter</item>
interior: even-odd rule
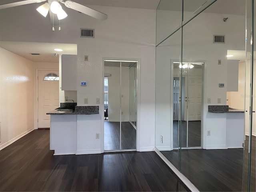
[[[136,130],[130,122],[122,122],[121,149],[136,149]],[[104,122],[104,150],[120,149],[120,122]]]

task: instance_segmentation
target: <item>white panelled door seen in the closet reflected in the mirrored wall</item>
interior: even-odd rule
[[[202,76],[188,78],[188,121],[200,121],[202,111]]]

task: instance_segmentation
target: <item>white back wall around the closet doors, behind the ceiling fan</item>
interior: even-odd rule
[[[154,149],[155,116],[155,38],[156,11],[136,8],[90,6],[108,15],[99,21],[74,10],[64,8],[68,17],[61,22],[61,31],[52,32],[48,16],[42,17],[36,11],[36,4],[3,9],[0,12],[0,40],[22,42],[75,43],[78,48],[78,83],[86,80],[86,87],[78,86],[78,105],[96,105],[96,98],[103,102],[102,58],[136,58],[140,60],[140,113],[138,114],[138,149]],[[94,28],[95,38],[80,38],[80,28]],[[19,31],[19,35],[16,34]],[[88,62],[84,61],[88,55]],[[60,94],[61,96],[61,94]],[[63,97],[63,96],[61,96]],[[61,102],[61,99],[60,99]],[[91,130],[97,130],[100,116],[92,123]],[[103,123],[100,125],[103,130]],[[92,135],[93,144],[102,145]],[[84,141],[86,142],[86,141]],[[86,143],[85,143],[86,145]]]

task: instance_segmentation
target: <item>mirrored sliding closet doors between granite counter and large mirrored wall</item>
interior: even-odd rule
[[[137,60],[104,60],[104,151],[135,151]]]

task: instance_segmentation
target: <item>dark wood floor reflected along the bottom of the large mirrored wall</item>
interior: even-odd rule
[[[254,136],[252,141],[250,191],[255,191],[255,146]],[[245,156],[247,156],[246,151],[248,149],[245,150]],[[222,150],[184,149],[182,150],[181,172],[200,191],[242,191],[243,152],[242,148]],[[161,151],[161,153],[178,168],[178,150]],[[245,164],[248,164],[248,158],[246,157]]]

